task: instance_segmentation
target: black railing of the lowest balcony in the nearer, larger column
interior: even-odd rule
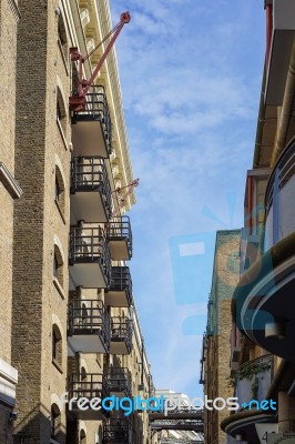
[[[109,396],[109,387],[101,373],[71,373],[68,379],[69,400],[85,397],[101,400]]]

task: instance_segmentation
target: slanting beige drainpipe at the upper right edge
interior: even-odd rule
[[[294,92],[295,92],[295,39],[293,40],[284,100],[281,109],[281,115],[278,119],[275,147],[272,155],[272,162],[271,162],[272,168],[275,165],[279,154],[283,152],[286,144],[289,118],[292,115],[292,103],[293,103]]]

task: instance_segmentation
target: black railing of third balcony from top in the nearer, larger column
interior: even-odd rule
[[[111,255],[103,230],[95,228],[71,228],[70,265],[99,262],[103,269],[106,286],[111,281]]]

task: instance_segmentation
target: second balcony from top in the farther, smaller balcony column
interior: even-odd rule
[[[105,305],[131,306],[132,305],[132,280],[129,266],[112,266],[111,284],[105,293]]]

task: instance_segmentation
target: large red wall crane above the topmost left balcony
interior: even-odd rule
[[[123,26],[129,23],[131,20],[129,12],[122,12],[120,17],[120,22],[114,27],[114,29],[109,32],[108,36],[91,51],[87,57],[82,56],[79,52],[78,48],[70,48],[70,56],[72,62],[78,62],[78,94],[70,97],[70,108],[78,112],[83,111],[85,109],[85,95],[91,88],[93,81],[95,80],[104,60],[106,59],[109,52],[111,51],[118,36],[120,34]],[[113,34],[113,36],[112,36]],[[112,36],[111,40],[109,41],[102,58],[100,59],[99,63],[96,64],[94,71],[92,72],[89,80],[83,79],[83,64],[90,58],[90,56],[110,37]]]

